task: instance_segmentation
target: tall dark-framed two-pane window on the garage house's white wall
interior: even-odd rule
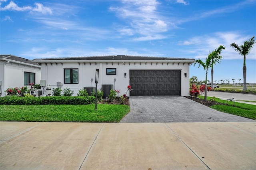
[[[64,83],[78,84],[78,69],[64,69]]]

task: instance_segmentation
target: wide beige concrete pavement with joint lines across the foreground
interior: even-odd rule
[[[0,122],[0,169],[255,169],[256,122]]]

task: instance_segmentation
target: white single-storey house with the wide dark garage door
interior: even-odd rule
[[[104,93],[110,88],[120,90],[122,95],[131,85],[133,90],[127,96],[188,96],[189,66],[194,59],[111,55],[32,61],[41,65],[42,80],[46,85],[70,88],[74,95],[84,87],[95,87],[95,73],[99,69],[98,89]]]

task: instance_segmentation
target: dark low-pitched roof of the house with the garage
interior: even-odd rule
[[[51,60],[191,60],[191,58],[172,58],[172,57],[145,57],[145,56],[133,56],[133,55],[104,55],[104,56],[92,56],[92,57],[62,57],[62,58],[44,58],[44,59],[34,59],[37,61],[51,61]]]

